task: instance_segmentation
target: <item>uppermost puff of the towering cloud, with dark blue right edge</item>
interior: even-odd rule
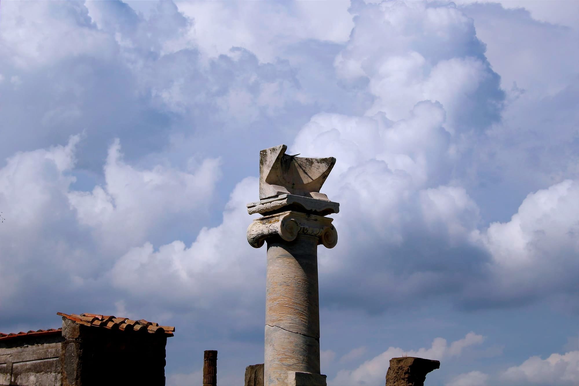
[[[448,130],[497,120],[499,77],[484,56],[472,19],[451,5],[426,2],[357,3],[356,27],[336,58],[345,79],[369,79],[376,97],[367,111],[408,117],[422,100],[442,103]],[[465,127],[466,126],[466,127]]]

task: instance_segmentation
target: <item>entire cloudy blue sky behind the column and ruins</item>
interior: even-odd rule
[[[259,150],[334,156],[321,372],[579,384],[579,2],[0,3],[0,331],[175,326],[263,363]]]

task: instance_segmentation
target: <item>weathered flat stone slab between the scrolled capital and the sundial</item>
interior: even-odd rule
[[[321,193],[318,194],[321,195]],[[267,214],[285,210],[296,210],[297,212],[326,216],[327,214],[340,212],[340,204],[327,199],[309,198],[293,194],[282,194],[247,204],[247,212],[249,214],[260,213],[263,216],[267,216]]]

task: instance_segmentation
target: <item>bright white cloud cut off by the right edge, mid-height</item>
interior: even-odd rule
[[[494,283],[488,292],[472,295],[508,300],[572,293],[579,270],[577,202],[579,183],[566,180],[529,194],[511,221],[474,231],[474,241],[492,256]]]

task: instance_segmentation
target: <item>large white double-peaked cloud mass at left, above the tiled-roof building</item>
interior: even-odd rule
[[[187,172],[160,165],[136,169],[122,161],[118,141],[109,151],[104,187],[75,191],[80,142],[73,136],[67,145],[18,152],[0,169],[0,207],[8,225],[0,232],[5,315],[34,312],[35,307],[23,311],[22,299],[31,293],[58,293],[57,303],[72,303],[86,283],[107,286],[102,275],[130,247],[182,220],[182,213],[202,213],[211,200],[217,160],[206,159]],[[175,190],[184,194],[174,196]],[[118,299],[109,300],[111,307]]]

